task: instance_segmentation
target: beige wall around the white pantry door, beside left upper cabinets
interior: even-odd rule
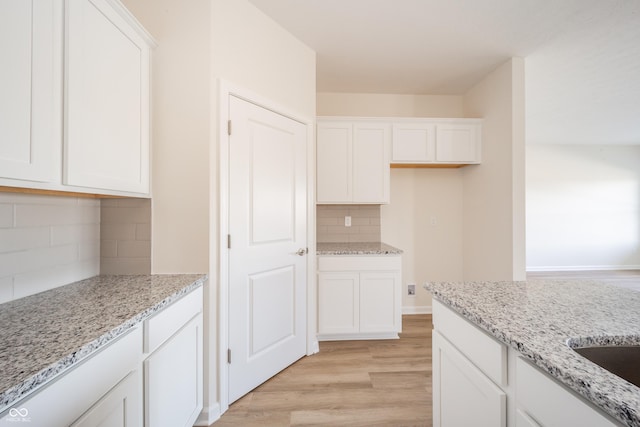
[[[124,0],[156,38],[152,272],[208,272],[205,413],[219,412],[219,79],[315,117],[315,52],[247,0]],[[206,422],[204,422],[206,424]]]

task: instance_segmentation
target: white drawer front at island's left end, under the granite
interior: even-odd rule
[[[433,300],[433,325],[496,384],[507,385],[507,346]]]

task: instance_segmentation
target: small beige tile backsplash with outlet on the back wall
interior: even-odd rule
[[[351,227],[345,226],[345,216],[351,217]],[[379,205],[317,205],[316,241],[379,242]]]

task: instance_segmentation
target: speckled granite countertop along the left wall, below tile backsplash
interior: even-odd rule
[[[0,304],[0,412],[205,280],[97,276]]]

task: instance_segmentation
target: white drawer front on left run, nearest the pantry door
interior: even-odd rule
[[[202,311],[202,293],[202,287],[200,287],[145,320],[145,353],[152,353]]]

